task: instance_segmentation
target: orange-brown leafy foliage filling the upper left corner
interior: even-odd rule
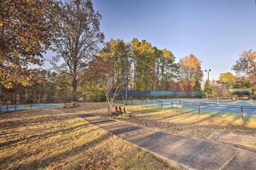
[[[34,70],[42,65],[55,36],[58,3],[53,0],[5,0],[0,2],[0,84],[29,85]]]

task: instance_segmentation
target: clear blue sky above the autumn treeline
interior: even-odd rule
[[[102,15],[105,41],[145,39],[172,51],[177,62],[194,54],[202,61],[203,70],[212,70],[210,79],[231,71],[243,51],[256,50],[254,0],[92,1]],[[49,52],[45,58],[52,55]],[[48,68],[49,62],[45,66]]]

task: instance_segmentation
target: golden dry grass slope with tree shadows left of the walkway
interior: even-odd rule
[[[3,114],[0,134],[3,169],[170,169],[152,154],[72,113]]]

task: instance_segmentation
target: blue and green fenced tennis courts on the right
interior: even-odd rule
[[[116,101],[126,104],[126,101]],[[127,105],[154,106],[160,109],[179,109],[180,111],[210,114],[210,115],[232,115],[239,117],[251,117],[256,115],[255,101],[237,101],[231,98],[225,99],[163,99],[163,100],[127,100]]]

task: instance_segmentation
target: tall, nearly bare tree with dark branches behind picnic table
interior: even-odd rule
[[[100,32],[101,15],[95,12],[91,0],[71,0],[62,6],[60,37],[52,50],[57,54],[51,60],[53,68],[67,79],[60,80],[72,86],[73,101],[77,87],[86,82],[84,74],[98,54],[104,35]],[[60,61],[62,64],[57,65]]]

